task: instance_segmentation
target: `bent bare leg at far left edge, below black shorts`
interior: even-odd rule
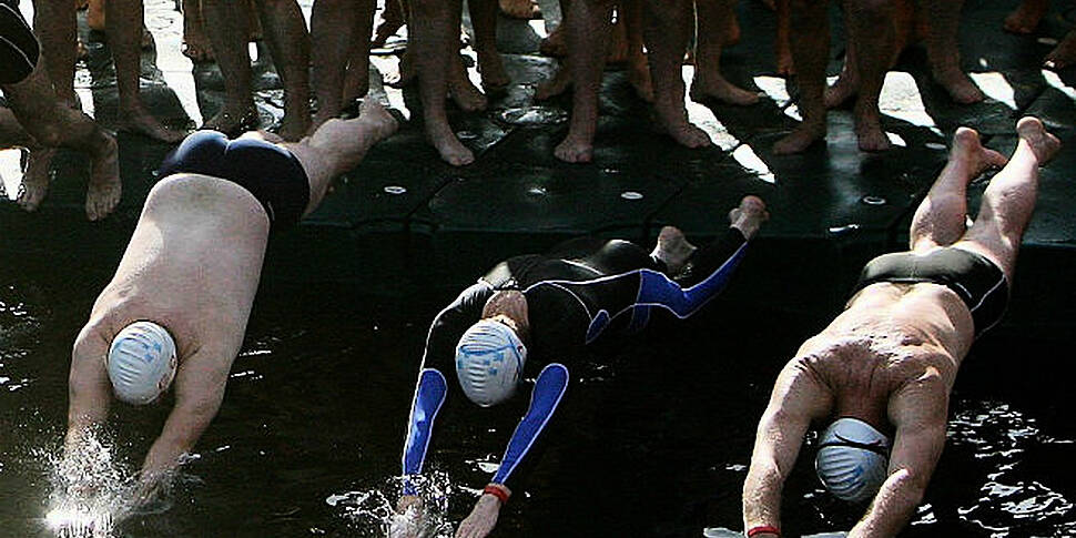
[[[90,156],[87,216],[97,221],[111,213],[120,202],[121,189],[115,139],[90,116],[62,105],[40,63],[27,80],[2,89],[11,112],[34,141],[45,148],[71,148]]]

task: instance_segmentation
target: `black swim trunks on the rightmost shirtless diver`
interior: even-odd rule
[[[985,256],[961,248],[943,247],[926,255],[900,252],[875,257],[863,267],[852,294],[879,282],[930,282],[948,287],[971,311],[976,337],[996,325],[1008,305],[1005,273]]]

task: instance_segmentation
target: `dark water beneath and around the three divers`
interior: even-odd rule
[[[0,272],[0,536],[57,536],[45,516],[58,506],[70,347],[106,276],[70,271],[39,260]],[[174,489],[152,514],[98,536],[384,536],[426,323],[449,298],[448,288],[385,298],[263,283],[221,413]],[[770,384],[820,323],[725,300],[659,324],[630,351],[596,355],[577,369],[561,443],[495,536],[738,528]],[[905,536],[1073,536],[1076,406],[1062,380],[1072,339],[999,332],[981,344]],[[116,407],[104,467],[130,476],[166,410]],[[514,420],[438,424],[441,536],[470,510]],[[822,495],[801,461],[784,505],[789,536],[846,530],[860,514]]]

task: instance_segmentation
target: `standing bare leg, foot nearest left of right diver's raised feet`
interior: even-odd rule
[[[882,131],[879,95],[896,47],[893,6],[890,0],[852,0],[845,2],[845,16],[859,74],[853,113],[860,149],[887,150],[891,144]]]

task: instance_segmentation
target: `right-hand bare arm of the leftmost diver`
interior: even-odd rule
[[[216,416],[231,364],[220,353],[206,351],[199,351],[180,364],[175,375],[175,407],[142,464],[140,501],[146,500],[161,479],[180,465],[180,456],[194,448]]]

